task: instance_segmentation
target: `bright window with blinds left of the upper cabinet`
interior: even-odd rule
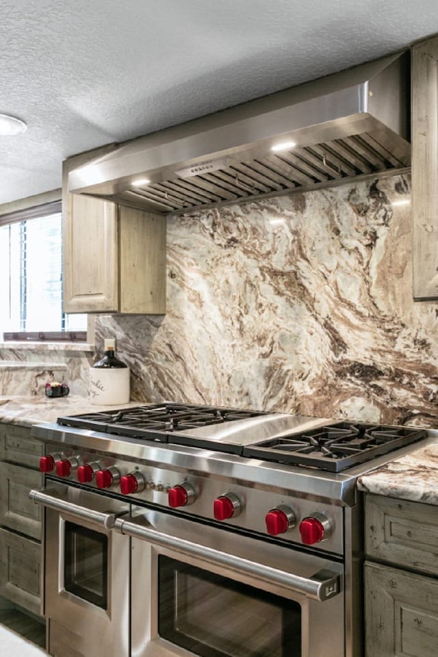
[[[0,217],[4,340],[86,340],[86,314],[62,312],[61,203]]]

